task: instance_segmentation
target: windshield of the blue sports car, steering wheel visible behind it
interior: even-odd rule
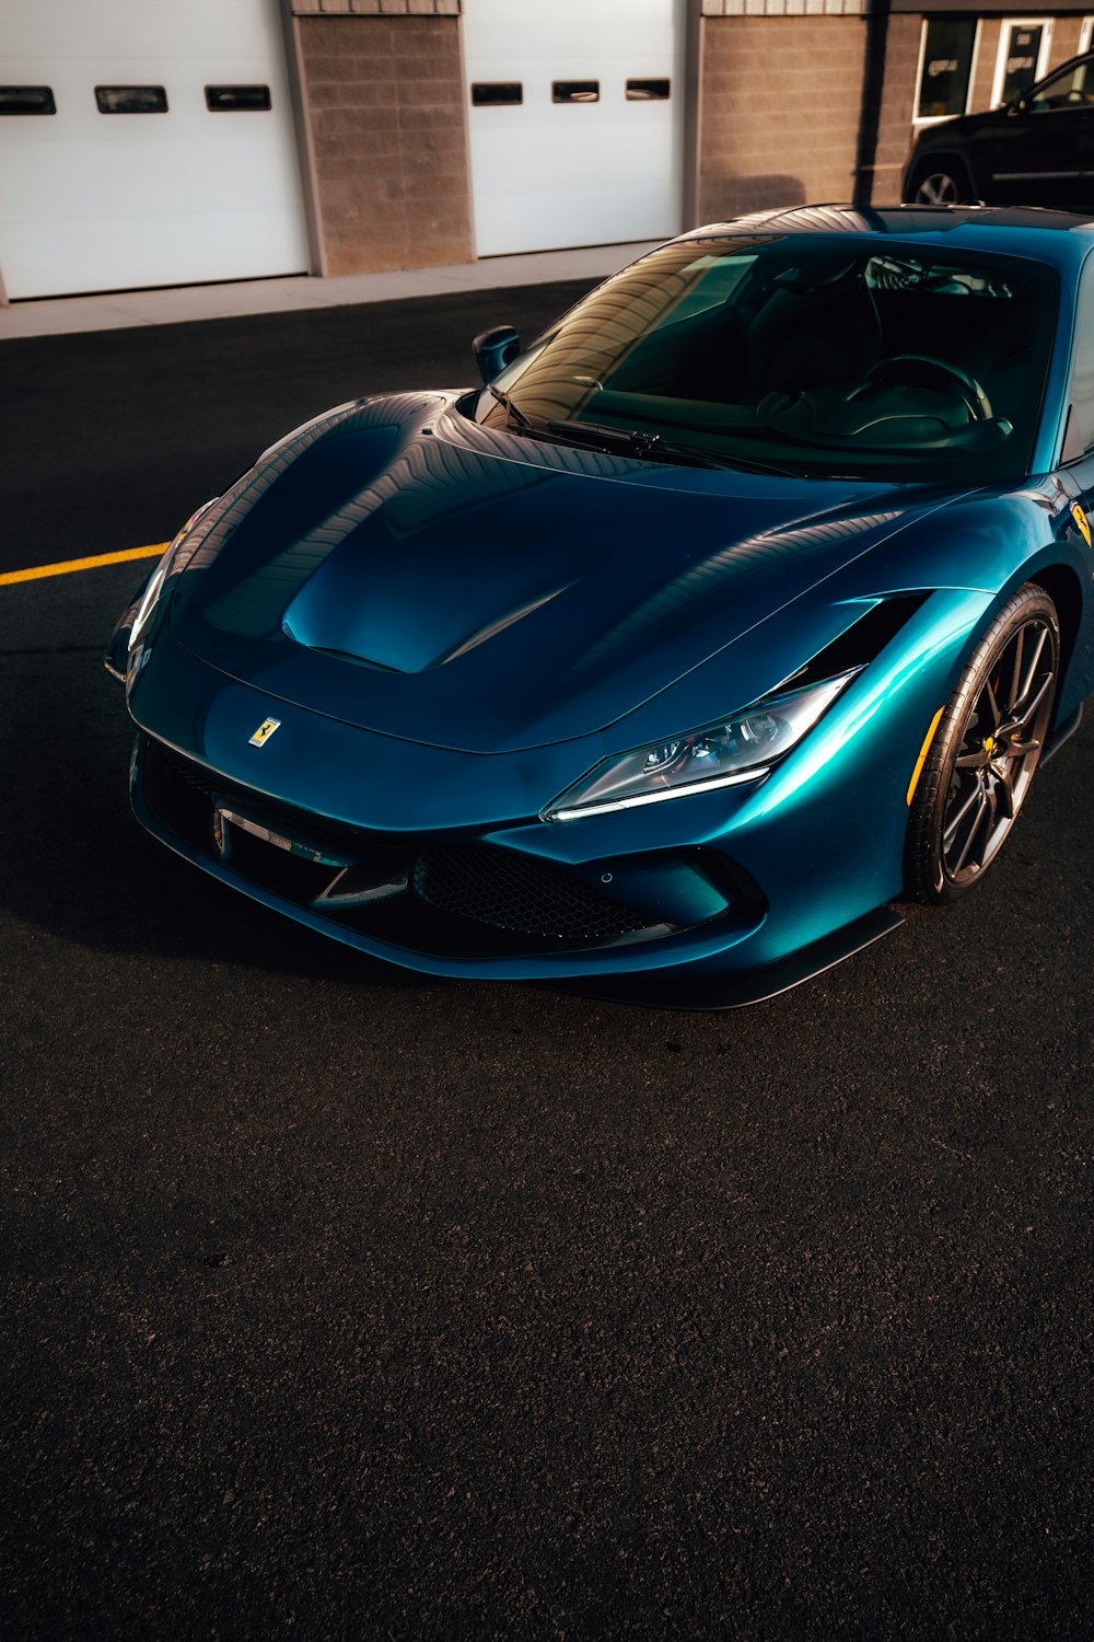
[[[992,483],[1028,471],[1055,317],[1056,276],[1033,261],[697,236],[579,302],[476,415],[610,448],[636,435],[636,455]]]

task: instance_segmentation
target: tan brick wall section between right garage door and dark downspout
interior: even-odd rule
[[[699,222],[850,200],[863,97],[859,16],[704,16]]]

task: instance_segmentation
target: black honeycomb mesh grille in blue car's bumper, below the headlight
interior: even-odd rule
[[[566,867],[497,849],[433,849],[415,862],[412,885],[420,900],[458,918],[568,944],[653,928]]]

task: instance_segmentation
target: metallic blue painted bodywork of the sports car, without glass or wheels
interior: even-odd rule
[[[1028,223],[992,230],[968,212],[886,217],[920,235],[930,218],[937,240],[994,250],[1005,238],[1010,255],[1053,263],[1064,320],[1094,243]],[[1094,555],[1071,514],[1083,491],[1051,471],[1069,369],[1064,322],[1037,445],[1046,476],[969,494],[650,465],[479,427],[451,394],[366,399],[274,447],[177,550],[128,657],[130,713],[156,742],[346,828],[476,839],[590,880],[615,864],[631,893],[646,872],[653,901],[676,897],[705,921],[584,951],[412,951],[187,844],[144,803],[139,759],[134,810],[207,872],[412,969],[605,982],[758,972],[751,992],[779,990],[771,965],[810,949],[799,967],[827,967],[899,921],[879,908],[902,890],[923,734],[1022,583],[1045,578],[1068,604],[1056,726],[1094,686]],[[540,819],[607,754],[761,699],[904,591],[930,596],[766,778]],[[254,749],[267,716],[280,729]],[[709,916],[725,900],[687,865],[704,849],[758,887],[732,913]]]

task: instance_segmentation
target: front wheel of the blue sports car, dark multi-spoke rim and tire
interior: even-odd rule
[[[917,901],[955,901],[999,854],[1033,780],[1060,675],[1060,622],[1032,583],[973,650],[923,762],[905,849]]]

